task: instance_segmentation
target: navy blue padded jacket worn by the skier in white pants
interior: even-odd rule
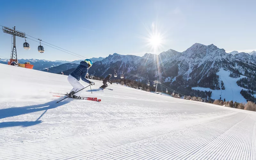
[[[76,67],[76,69],[70,73],[70,76],[76,78],[78,81],[82,78],[84,82],[90,83],[90,81],[85,78],[88,72],[88,68],[88,64],[85,61],[81,61],[80,64]]]

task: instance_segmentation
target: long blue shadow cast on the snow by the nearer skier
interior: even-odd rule
[[[36,121],[2,122],[2,123],[0,123],[0,128],[13,127],[13,126],[26,127],[26,126],[40,124],[42,121],[39,120],[39,119],[46,113],[46,111],[48,109],[60,107],[64,104],[69,103],[72,99],[64,100],[64,101],[61,101],[59,103],[56,103],[58,100],[60,100],[60,99],[52,100],[52,101],[44,103],[44,104],[0,109],[0,119],[45,110],[44,113],[41,114],[41,116],[38,117]]]

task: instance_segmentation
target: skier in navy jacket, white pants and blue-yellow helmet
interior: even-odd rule
[[[81,61],[80,64],[76,67],[76,69],[71,72],[68,76],[68,82],[73,86],[73,89],[70,91],[68,95],[71,95],[81,89],[84,88],[84,85],[79,82],[80,79],[82,79],[84,82],[89,83],[91,85],[94,85],[94,82],[91,82],[85,78],[88,69],[92,66],[92,61],[89,59],[86,59],[84,61]],[[73,94],[73,98],[81,99],[80,97],[81,92],[77,92]]]

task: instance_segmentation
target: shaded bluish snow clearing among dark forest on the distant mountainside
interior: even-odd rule
[[[200,91],[212,91],[212,99],[223,100],[224,98],[226,101],[233,100],[234,102],[246,102],[246,99],[240,94],[240,91],[244,89],[243,87],[240,87],[236,84],[236,81],[238,81],[240,78],[244,78],[245,76],[240,75],[238,78],[232,78],[229,76],[230,72],[225,71],[223,68],[219,70],[217,75],[220,76],[220,82],[223,81],[225,90],[212,90],[210,88],[203,88],[203,87],[192,87],[194,90],[200,90]],[[221,86],[221,85],[220,85]],[[244,89],[246,90],[246,89]]]

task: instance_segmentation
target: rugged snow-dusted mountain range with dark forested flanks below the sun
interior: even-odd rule
[[[196,93],[197,96],[204,98],[221,98],[222,100],[226,98],[224,96],[225,86],[230,84],[228,81],[225,81],[225,77],[222,77],[222,72],[220,73],[221,69],[228,71],[225,72],[226,74],[240,75],[241,78],[256,77],[255,56],[247,53],[238,53],[234,56],[213,44],[203,45],[199,43],[193,44],[184,52],[168,50],[159,55],[146,53],[143,57],[114,53],[104,60],[94,63],[90,70],[96,71],[95,74],[97,76],[104,77],[110,73],[114,73],[112,68],[120,70],[116,71],[118,75],[121,74],[121,71],[124,71],[150,80],[160,80],[168,87],[182,92],[183,94],[193,95]],[[139,77],[127,74],[125,77],[143,81],[143,79]],[[118,76],[117,78],[120,77]],[[236,81],[238,81],[238,79],[236,79]],[[253,82],[250,82],[250,84]],[[241,83],[235,83],[234,85],[233,87],[242,86]],[[256,89],[251,86],[252,85],[248,84],[244,89],[256,91]],[[192,90],[191,87],[201,87],[205,88],[205,90],[204,92],[202,90],[198,92]],[[164,90],[164,88],[162,89]],[[209,89],[217,90],[219,96],[212,97]],[[226,91],[229,92],[228,90]],[[240,95],[240,92],[234,94]],[[251,96],[253,97],[253,95]],[[248,99],[248,97],[246,97],[246,99]],[[236,101],[234,97],[226,100]],[[244,100],[245,99],[241,98],[240,101]]]

